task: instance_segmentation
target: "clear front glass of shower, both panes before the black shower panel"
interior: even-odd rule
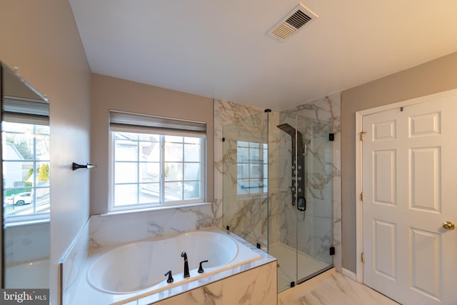
[[[268,130],[268,253],[283,291],[333,264],[331,124],[273,113]]]

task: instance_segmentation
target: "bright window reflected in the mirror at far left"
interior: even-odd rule
[[[49,126],[2,121],[1,129],[6,223],[48,219]]]

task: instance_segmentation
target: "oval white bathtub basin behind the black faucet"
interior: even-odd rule
[[[184,278],[185,251],[190,277]],[[219,229],[198,230],[172,238],[138,241],[101,255],[89,267],[87,280],[105,294],[154,294],[246,264],[261,256]],[[200,261],[204,272],[199,273]],[[167,283],[171,270],[174,281]]]

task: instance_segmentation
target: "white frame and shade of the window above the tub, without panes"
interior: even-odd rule
[[[149,116],[144,114],[133,114],[124,111],[109,110],[110,130],[109,130],[109,202],[108,212],[119,211],[139,211],[156,208],[169,208],[176,206],[189,206],[201,204],[206,200],[206,123],[196,121],[185,121],[181,119],[165,118],[161,116]],[[197,130],[198,129],[198,130]],[[203,130],[204,129],[204,130]],[[138,201],[129,205],[115,206],[115,148],[116,132],[129,132],[133,134],[159,134],[161,145],[161,174],[160,174],[160,200],[159,203],[139,204]],[[196,137],[201,139],[200,143],[200,198],[179,201],[164,200],[164,136],[184,136]],[[184,151],[183,151],[184,156]],[[139,164],[140,161],[133,161]],[[184,159],[182,161],[184,162]],[[184,182],[183,178],[183,182]],[[139,181],[136,182],[140,184]]]

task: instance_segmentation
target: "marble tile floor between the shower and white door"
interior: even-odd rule
[[[278,305],[398,305],[335,269],[278,294]]]

